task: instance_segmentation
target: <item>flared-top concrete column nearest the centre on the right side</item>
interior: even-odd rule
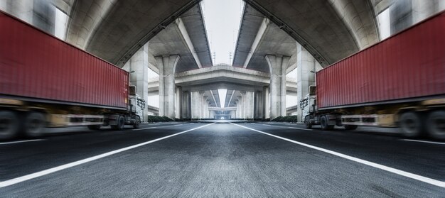
[[[289,57],[279,55],[266,55],[270,67],[270,118],[286,116],[286,69]]]

